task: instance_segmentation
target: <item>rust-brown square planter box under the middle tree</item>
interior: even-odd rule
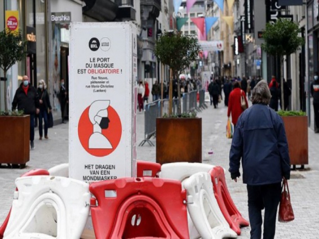
[[[157,118],[156,162],[201,163],[201,118]]]

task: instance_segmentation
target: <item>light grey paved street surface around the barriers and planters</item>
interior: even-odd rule
[[[231,139],[225,136],[227,108],[220,105],[218,109],[209,106],[198,114],[202,118],[203,163],[220,165],[228,170],[228,155]],[[144,138],[144,113],[138,115],[138,144]],[[49,140],[38,140],[35,132],[35,150],[30,153],[30,161],[25,169],[0,169],[0,224],[9,211],[14,191],[14,179],[20,174],[34,168],[48,169],[54,165],[68,162],[68,124],[59,124],[49,129]],[[156,139],[152,141],[155,143]],[[213,154],[208,151],[213,150]],[[18,150],[18,149],[17,149]],[[138,159],[155,161],[155,147],[147,143],[138,147]],[[277,223],[276,239],[319,239],[319,134],[309,129],[309,165],[305,171],[292,172],[289,181],[295,221]],[[235,183],[226,174],[227,186],[235,205],[248,220],[247,191],[241,179]],[[238,238],[249,239],[250,228],[242,229]]]

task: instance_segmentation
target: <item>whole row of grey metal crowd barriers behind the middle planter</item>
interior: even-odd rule
[[[205,106],[205,91],[199,91],[199,106],[197,106],[197,91],[192,91],[189,93],[184,93],[181,98],[181,109],[180,113],[188,113],[198,111],[207,108]],[[163,104],[162,115],[160,115],[160,104]],[[144,129],[144,139],[139,144],[143,146],[146,142],[150,146],[155,146],[151,141],[151,137],[156,134],[156,118],[163,117],[164,114],[168,115],[168,99],[158,100],[145,105],[144,119],[145,119],[145,129]],[[178,99],[173,99],[172,113],[177,114]]]

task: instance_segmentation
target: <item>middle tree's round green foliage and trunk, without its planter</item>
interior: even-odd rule
[[[180,31],[165,32],[159,37],[155,45],[155,56],[164,65],[168,65],[173,77],[178,76],[195,61],[200,51],[200,45],[196,37],[183,35]],[[178,115],[180,115],[180,88],[178,81]],[[169,80],[169,116],[172,105],[172,79]]]

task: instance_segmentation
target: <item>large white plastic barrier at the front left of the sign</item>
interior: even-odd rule
[[[15,180],[12,209],[3,239],[79,239],[89,211],[89,185],[54,176]]]

